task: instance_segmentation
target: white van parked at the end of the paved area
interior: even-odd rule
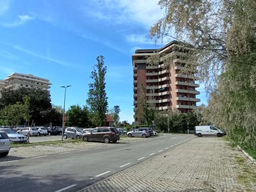
[[[215,126],[212,125],[205,125],[205,126],[195,126],[195,135],[198,137],[202,137],[203,135],[215,135],[221,137],[225,135],[225,132],[217,129]]]

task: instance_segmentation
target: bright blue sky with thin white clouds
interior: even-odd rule
[[[163,46],[148,38],[163,16],[158,0],[0,0],[0,79],[14,72],[47,78],[52,104],[86,105],[96,57],[105,57],[109,108],[133,121],[136,49]],[[198,98],[206,103],[203,84]]]

